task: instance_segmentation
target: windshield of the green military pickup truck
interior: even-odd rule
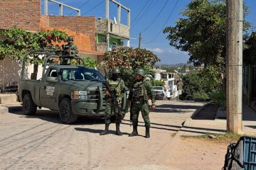
[[[65,68],[60,69],[62,81],[68,80],[88,80],[88,81],[105,81],[102,74],[95,69],[87,68]]]

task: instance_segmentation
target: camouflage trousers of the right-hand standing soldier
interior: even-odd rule
[[[139,111],[142,112],[142,118],[144,119],[145,126],[150,127],[149,104],[146,101],[132,102],[132,124],[138,125]]]

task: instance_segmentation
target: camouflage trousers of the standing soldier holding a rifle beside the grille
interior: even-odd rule
[[[119,107],[121,106],[119,105]],[[107,103],[105,111],[106,111],[105,124],[110,125],[112,115],[115,116],[115,123],[121,123],[122,116],[118,114],[117,107],[114,106],[112,102]]]

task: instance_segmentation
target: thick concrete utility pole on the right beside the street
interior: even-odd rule
[[[242,0],[227,0],[227,128],[242,132]]]

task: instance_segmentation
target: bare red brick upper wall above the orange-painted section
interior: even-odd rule
[[[57,28],[67,28],[89,35],[90,46],[92,51],[96,51],[96,21],[94,16],[49,16],[49,26],[55,28],[55,20]]]

